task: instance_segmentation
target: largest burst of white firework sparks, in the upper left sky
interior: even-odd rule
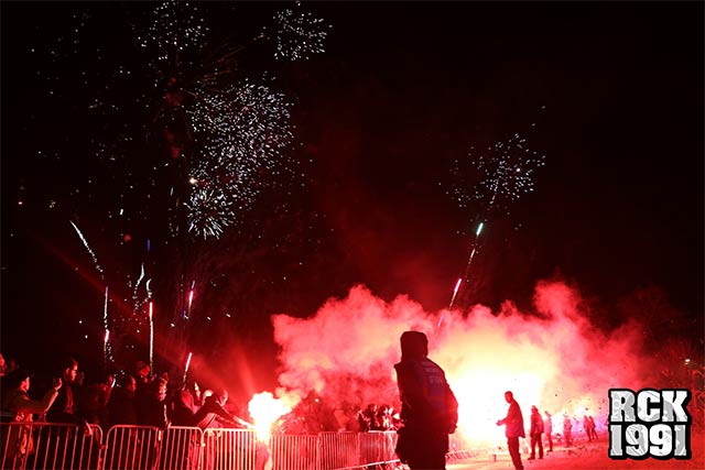
[[[291,105],[264,85],[200,90],[189,113],[203,145],[192,168],[188,231],[218,238],[259,193],[262,171],[281,172],[292,141]]]

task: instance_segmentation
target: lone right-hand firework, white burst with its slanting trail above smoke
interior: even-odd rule
[[[535,123],[532,123],[531,127],[534,128]],[[455,199],[462,208],[478,207],[479,223],[470,245],[465,274],[455,286],[448,308],[453,307],[463,282],[467,283],[468,281],[473,260],[481,248],[480,233],[485,223],[498,210],[503,210],[506,215],[509,215],[510,203],[533,192],[533,173],[536,168],[545,165],[545,155],[529,149],[527,139],[519,133],[514,133],[506,141],[496,142],[487,147],[485,153],[476,154],[471,149],[468,159],[476,183],[473,185],[470,194],[467,193],[466,185],[457,185],[454,189]],[[458,161],[455,163],[454,172],[463,181],[462,163]],[[438,326],[442,321],[443,317],[441,317]]]

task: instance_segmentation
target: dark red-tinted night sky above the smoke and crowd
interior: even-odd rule
[[[650,289],[702,345],[702,2],[304,2],[330,28],[325,52],[296,62],[250,41],[294,3],[205,2],[213,40],[156,70],[134,40],[154,6],[2,2],[6,356],[99,364],[105,286],[111,315],[130,317],[141,263],[176,362],[184,343],[270,354],[270,315],[308,316],[356,284],[435,311],[480,219],[460,307],[530,311],[535,283],[560,277],[616,328],[618,306]],[[238,222],[203,240],[170,228],[184,211],[170,190],[187,182],[164,130],[186,133],[165,83],[193,85],[218,44],[247,45],[224,80],[267,74],[292,102],[295,170],[261,171]],[[502,210],[460,207],[453,168],[471,178],[469,155],[516,133],[545,156],[534,192]]]

